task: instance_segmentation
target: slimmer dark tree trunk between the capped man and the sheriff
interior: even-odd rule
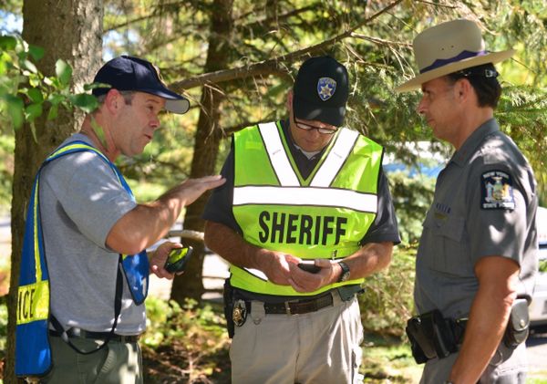
[[[224,69],[228,63],[232,36],[232,5],[233,0],[214,0],[212,6],[211,35],[207,61],[204,73]],[[214,172],[222,130],[219,128],[221,103],[224,99],[214,85],[206,84],[201,93],[201,111],[196,130],[193,158],[191,161],[191,177],[201,177]],[[184,229],[203,231],[204,222],[201,213],[209,194],[201,196],[186,210]],[[201,300],[203,294],[202,267],[203,243],[190,244],[194,247],[192,256],[184,275],[176,277],[171,289],[171,298],[182,304],[186,297]]]

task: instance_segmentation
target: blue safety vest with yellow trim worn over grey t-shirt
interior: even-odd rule
[[[96,148],[84,141],[72,141],[50,154],[36,172],[36,178],[26,212],[25,238],[21,258],[21,272],[17,296],[17,316],[15,332],[15,374],[17,376],[41,376],[51,368],[49,347],[49,275],[47,274],[46,254],[39,210],[39,176],[50,161],[77,151],[92,151],[115,172],[119,182],[129,193],[128,183],[118,168]],[[129,290],[135,304],[139,305],[148,294],[149,260],[146,251],[139,254],[121,254],[121,265],[128,281]]]

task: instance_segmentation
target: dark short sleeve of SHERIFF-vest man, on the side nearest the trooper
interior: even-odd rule
[[[389,185],[387,183],[386,174],[383,168],[380,168],[378,174],[378,207],[377,217],[368,228],[361,244],[368,243],[383,243],[392,242],[393,244],[399,244],[401,242],[398,226],[397,216],[395,214],[395,208],[391,199],[391,193],[389,192]]]

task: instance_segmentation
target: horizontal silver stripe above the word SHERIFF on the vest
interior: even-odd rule
[[[309,205],[376,213],[377,195],[334,188],[235,187],[233,189],[233,205],[245,204]]]

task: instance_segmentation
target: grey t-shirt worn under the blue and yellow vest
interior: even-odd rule
[[[65,141],[88,137],[75,134]],[[46,165],[40,176],[40,213],[50,278],[51,312],[65,328],[107,332],[114,322],[119,254],[108,249],[108,232],[136,202],[96,153],[82,151]],[[146,326],[123,276],[116,333],[135,335]]]

